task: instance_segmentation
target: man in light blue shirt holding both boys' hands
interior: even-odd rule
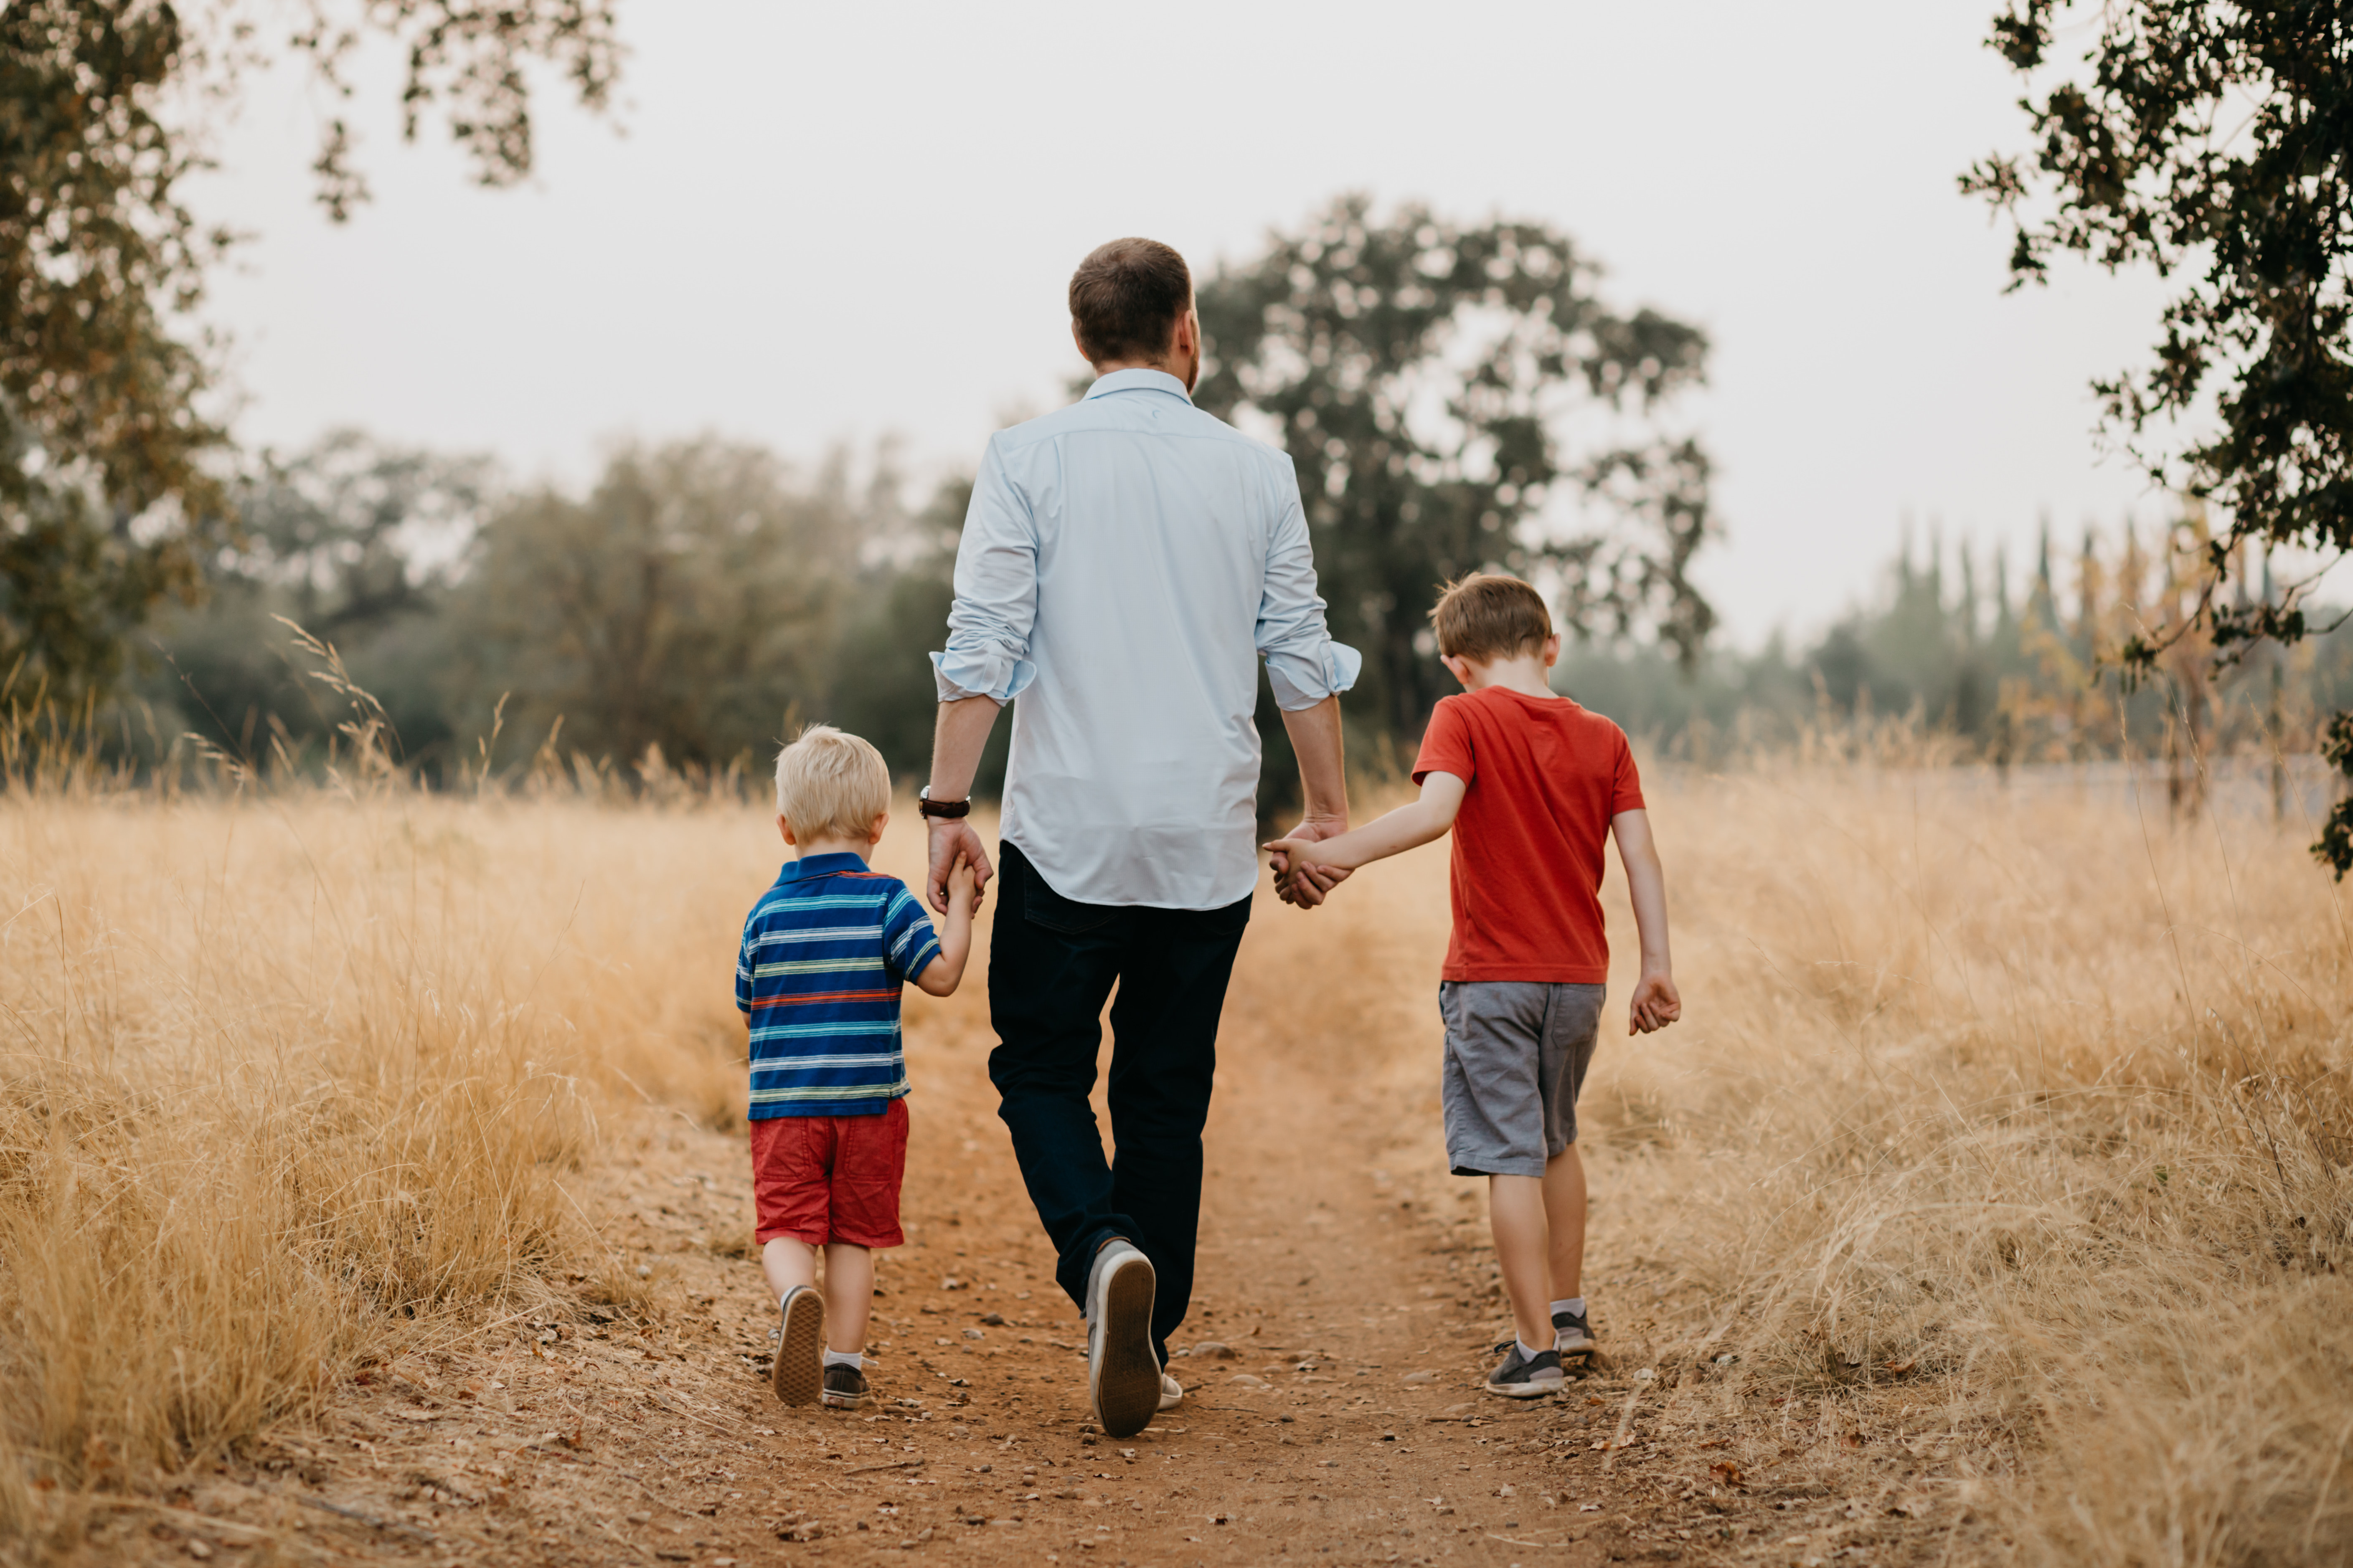
[[[1259,875],[1257,658],[1299,755],[1304,839],[1348,827],[1339,693],[1360,661],[1325,628],[1292,461],[1193,407],[1184,256],[1096,249],[1071,277],[1071,334],[1094,386],[991,437],[972,487],[922,811],[946,910],[960,856],[991,877],[967,795],[998,708],[1021,698],[988,1077],[1056,1281],[1087,1314],[1094,1413],[1127,1436],[1184,1394],[1167,1338],[1193,1293],[1217,1018]],[[1113,985],[1106,1161],[1087,1093]]]

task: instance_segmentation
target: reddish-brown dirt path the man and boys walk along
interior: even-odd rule
[[[1482,1201],[1435,1159],[1428,936],[1426,914],[1257,912],[1172,1366],[1188,1394],[1127,1443],[1087,1420],[1085,1328],[993,1114],[974,985],[908,1009],[911,1244],[880,1269],[878,1408],[774,1403],[741,1140],[647,1110],[576,1182],[609,1248],[581,1300],[336,1387],[313,1434],[89,1544],[713,1568],[1753,1556],[1807,1488],[1734,1490],[1708,1465],[1737,1434],[1666,1422],[1678,1371],[1649,1361],[1633,1288],[1595,1293],[1619,1371],[1534,1406],[1478,1392],[1508,1319]],[[654,1309],[598,1307],[600,1279]]]

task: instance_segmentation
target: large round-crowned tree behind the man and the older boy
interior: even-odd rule
[[[1365,651],[1353,705],[1391,733],[1449,689],[1426,611],[1475,567],[1546,581],[1579,635],[1654,625],[1685,668],[1715,623],[1687,571],[1708,458],[1654,423],[1706,339],[1612,310],[1598,275],[1541,223],[1348,195],[1200,287],[1195,400],[1292,454],[1334,635]]]

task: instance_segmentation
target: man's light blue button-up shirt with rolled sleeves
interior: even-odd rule
[[[1014,703],[1000,832],[1064,898],[1249,893],[1259,654],[1282,708],[1355,684],[1289,456],[1122,369],[1000,430],[955,550],[939,701]]]

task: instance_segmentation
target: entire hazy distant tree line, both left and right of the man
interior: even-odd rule
[[[508,491],[485,458],[336,433],[240,491],[242,543],[200,607],[151,625],[118,745],[195,736],[254,771],[320,769],[348,701],[299,625],[336,649],[381,703],[388,750],[433,788],[539,776],[638,792],[729,771],[755,788],[809,719],[868,736],[913,780],[967,487],[913,505],[906,491],[889,449],[795,468],[722,440],[621,447],[586,494]],[[2353,701],[2353,637],[2224,675],[2202,649],[2129,682],[2118,668],[2193,592],[2200,545],[2195,517],[2085,531],[2068,552],[2045,536],[2012,571],[2000,552],[1911,541],[1871,602],[1802,646],[1685,665],[1671,642],[1605,630],[1555,684],[1699,762],[1873,719],[1998,764],[2313,750],[2315,715]],[[1351,693],[1358,766],[1395,766],[1419,736],[1388,703]],[[991,778],[1002,745],[1000,729]]]

